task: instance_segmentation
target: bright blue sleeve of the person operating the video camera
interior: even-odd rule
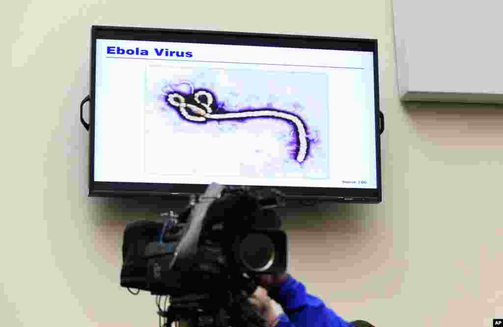
[[[349,322],[325,306],[319,298],[307,293],[304,284],[292,276],[271,294],[285,310],[277,327],[352,327]]]

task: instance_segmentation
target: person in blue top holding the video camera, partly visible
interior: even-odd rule
[[[249,302],[265,318],[267,327],[373,327],[363,320],[344,320],[289,274],[259,275],[256,279],[260,286]],[[281,305],[283,313],[275,309],[271,299]]]

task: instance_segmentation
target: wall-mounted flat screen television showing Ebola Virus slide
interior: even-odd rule
[[[93,26],[89,196],[381,201],[377,40]]]

